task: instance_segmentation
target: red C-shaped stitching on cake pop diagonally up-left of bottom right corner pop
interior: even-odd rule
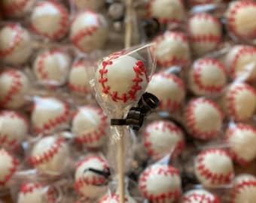
[[[209,153],[215,154],[217,153],[219,156],[229,156],[229,154],[225,150],[221,149],[209,149],[202,151],[197,156],[197,170],[200,172],[200,175],[203,177],[206,177],[207,180],[211,180],[212,184],[218,184],[218,183],[230,183],[232,177],[233,177],[233,171],[230,171],[228,174],[218,174],[215,172],[210,171],[209,168],[206,168],[206,165],[204,164],[205,156]]]

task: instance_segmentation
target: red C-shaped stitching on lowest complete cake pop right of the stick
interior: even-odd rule
[[[139,177],[139,190],[142,193],[142,195],[145,196],[145,198],[148,198],[149,201],[154,202],[161,202],[166,198],[172,198],[178,199],[181,195],[181,189],[174,189],[169,190],[169,192],[162,192],[159,195],[150,194],[150,192],[147,191],[147,180],[148,176],[150,176],[152,173],[157,172],[157,174],[164,174],[164,175],[177,175],[179,176],[179,171],[177,168],[172,167],[171,165],[160,165],[157,168],[154,168],[152,166],[145,169],[145,171],[142,172],[141,176]]]

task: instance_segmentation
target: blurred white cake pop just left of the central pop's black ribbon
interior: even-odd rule
[[[106,141],[107,130],[107,117],[101,108],[84,106],[73,117],[72,133],[75,141],[85,147],[102,147]]]

